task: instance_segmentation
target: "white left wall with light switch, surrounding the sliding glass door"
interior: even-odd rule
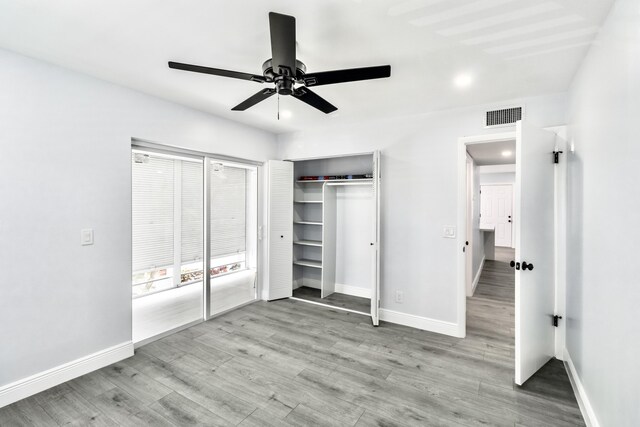
[[[0,94],[2,386],[131,340],[132,137],[255,160],[276,143],[7,51]]]

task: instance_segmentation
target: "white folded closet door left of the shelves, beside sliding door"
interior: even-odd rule
[[[267,163],[267,300],[293,295],[293,163]]]

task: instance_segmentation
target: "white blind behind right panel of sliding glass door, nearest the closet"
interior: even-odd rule
[[[211,258],[246,250],[247,171],[213,163],[211,167]]]

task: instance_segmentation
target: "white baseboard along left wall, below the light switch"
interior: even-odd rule
[[[58,384],[133,356],[133,343],[122,343],[0,387],[0,408]]]

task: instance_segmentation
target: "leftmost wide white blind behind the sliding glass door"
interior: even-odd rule
[[[132,153],[133,271],[173,264],[174,161]]]

